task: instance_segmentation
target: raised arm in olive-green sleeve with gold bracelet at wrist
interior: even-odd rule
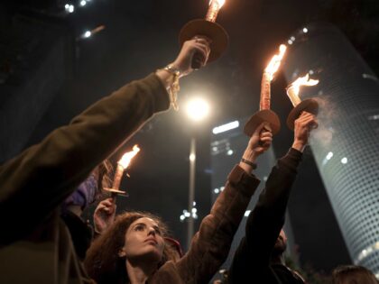
[[[27,232],[42,222],[98,163],[153,114],[166,110],[170,105],[167,89],[176,75],[191,72],[188,62],[197,50],[208,55],[207,44],[187,41],[170,69],[121,87],[0,166],[0,222],[4,229],[0,240],[10,241],[18,234],[11,230],[14,224],[23,224],[17,227]],[[26,214],[14,214],[21,210]]]

